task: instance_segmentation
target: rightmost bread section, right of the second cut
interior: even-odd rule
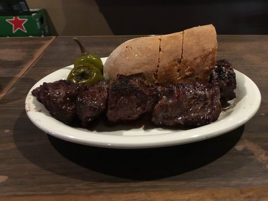
[[[208,81],[216,64],[218,47],[214,26],[187,29],[183,38],[183,58],[178,81]]]

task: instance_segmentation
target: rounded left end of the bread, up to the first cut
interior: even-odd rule
[[[104,66],[106,80],[115,80],[118,74],[131,75],[143,72],[145,77],[156,82],[160,36],[140,37],[118,46],[108,57]]]

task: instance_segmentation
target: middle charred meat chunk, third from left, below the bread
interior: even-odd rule
[[[108,88],[109,122],[136,120],[150,112],[157,100],[157,88],[147,83],[142,73],[119,75]]]

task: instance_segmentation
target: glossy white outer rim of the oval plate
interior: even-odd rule
[[[106,59],[107,59],[107,57],[102,58],[103,62],[105,62]],[[89,135],[86,136],[86,138],[78,138],[78,137],[73,137],[70,134],[66,134],[66,132],[58,131],[57,129],[51,129],[49,127],[44,127],[44,125],[42,125],[41,121],[36,121],[34,119],[33,113],[36,113],[38,111],[29,111],[30,106],[28,105],[29,104],[28,103],[29,97],[35,98],[32,95],[31,91],[35,87],[39,86],[40,83],[43,82],[42,80],[55,74],[57,71],[61,71],[63,69],[68,69],[68,68],[71,69],[70,67],[72,68],[73,65],[69,65],[69,66],[63,67],[59,70],[56,70],[56,71],[46,75],[45,77],[43,77],[39,81],[37,81],[31,87],[29,92],[27,93],[26,100],[25,100],[25,110],[26,110],[27,116],[31,120],[31,122],[35,126],[37,126],[39,129],[41,129],[42,131],[48,133],[49,135],[57,137],[59,139],[73,142],[73,143],[83,144],[83,145],[105,147],[105,148],[119,148],[119,149],[140,149],[140,148],[154,148],[154,147],[181,145],[181,144],[202,141],[205,139],[209,139],[209,138],[213,138],[213,137],[222,135],[224,133],[228,133],[228,132],[242,126],[243,124],[245,124],[249,119],[251,119],[256,114],[256,112],[258,111],[258,109],[260,107],[260,102],[261,102],[261,95],[260,95],[260,91],[259,91],[257,85],[249,77],[247,77],[243,73],[234,69],[236,75],[242,76],[254,89],[256,103],[252,104],[252,107],[250,108],[250,110],[247,111],[247,115],[243,119],[241,119],[236,124],[232,124],[231,126],[228,126],[227,128],[222,127],[221,129],[217,129],[216,131],[214,129],[212,131],[205,132],[206,134],[204,133],[204,130],[207,130],[208,127],[211,127],[211,125],[215,126],[217,124],[220,124],[220,122],[222,121],[221,120],[221,121],[213,122],[209,125],[205,125],[202,127],[193,128],[193,129],[189,129],[189,130],[185,130],[185,131],[181,131],[181,130],[179,131],[181,135],[187,135],[187,133],[189,133],[190,130],[192,132],[202,131],[199,135],[192,135],[189,138],[183,138],[183,139],[176,138],[175,135],[178,135],[178,132],[173,132],[173,133],[166,133],[166,134],[144,135],[144,136],[141,136],[141,135],[139,135],[139,136],[110,135],[109,140],[107,140],[105,138],[101,139],[102,137],[104,137],[104,135],[105,135],[105,137],[107,137],[107,134],[100,134],[100,133],[96,134],[96,133],[93,133],[93,132],[88,131],[88,130],[86,130],[86,131],[77,130],[76,128],[65,125],[65,124],[63,124],[63,123],[61,123],[58,120],[53,118],[56,121],[56,123],[58,122],[60,124],[63,124],[64,127],[66,126],[70,130],[68,133],[75,130],[76,132],[79,131],[79,133],[82,132],[82,133],[87,133],[87,134],[91,135],[90,138],[88,138]],[[56,81],[56,80],[54,80],[54,81]],[[96,135],[98,135],[99,137]],[[122,138],[124,138],[123,142],[122,142]]]

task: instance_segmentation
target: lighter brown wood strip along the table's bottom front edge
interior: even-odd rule
[[[154,200],[154,201],[203,201],[203,200],[235,200],[257,201],[267,200],[268,188],[211,188],[195,190],[148,190],[146,192],[91,193],[68,195],[30,195],[3,197],[3,201],[47,201],[47,200],[94,200],[94,201],[123,201],[123,200]]]

